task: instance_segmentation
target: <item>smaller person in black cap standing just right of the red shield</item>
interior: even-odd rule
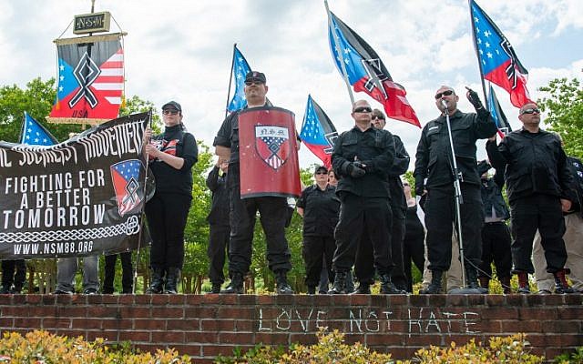
[[[332,257],[336,248],[334,227],[338,224],[340,199],[336,196],[336,187],[328,184],[328,169],[316,167],[316,183],[305,187],[298,200],[298,213],[303,217],[302,256],[306,265],[306,286],[308,294],[316,293],[316,286],[322,274],[322,262],[325,259],[328,277],[332,275]]]

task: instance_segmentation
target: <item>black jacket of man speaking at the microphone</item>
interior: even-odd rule
[[[454,140],[455,161],[463,181],[479,185],[476,169],[476,140],[496,134],[496,124],[484,108],[474,113],[457,110],[449,116]],[[445,116],[424,126],[415,155],[415,191],[454,182],[454,167]],[[427,181],[424,182],[424,179]]]

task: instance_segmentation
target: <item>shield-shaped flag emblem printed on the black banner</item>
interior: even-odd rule
[[[139,159],[124,160],[110,167],[120,217],[139,207],[141,197],[138,195],[138,178],[141,167]]]

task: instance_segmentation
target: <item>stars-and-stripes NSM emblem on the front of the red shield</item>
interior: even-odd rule
[[[269,167],[277,170],[290,157],[290,131],[281,126],[255,126],[255,149]]]

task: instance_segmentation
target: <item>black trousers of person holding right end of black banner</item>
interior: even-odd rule
[[[182,268],[184,262],[184,228],[189,217],[192,197],[181,194],[155,194],[146,204],[152,247],[151,268]]]

